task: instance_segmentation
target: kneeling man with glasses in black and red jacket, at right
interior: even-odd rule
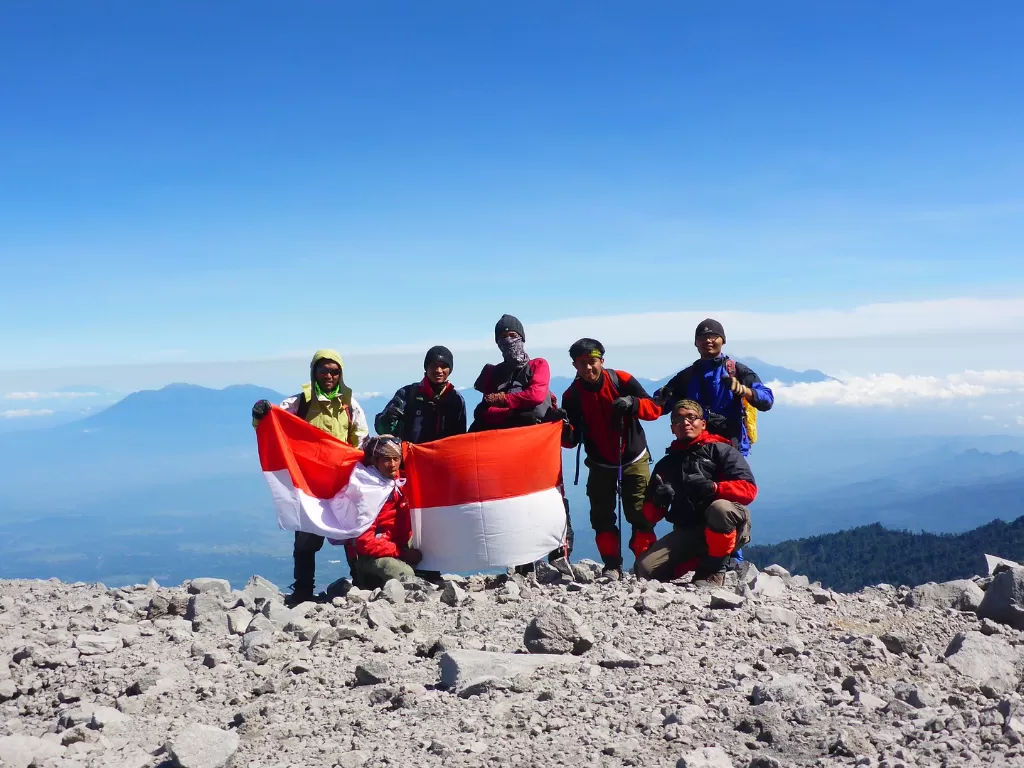
[[[694,583],[722,586],[729,557],[750,542],[754,474],[743,455],[707,426],[696,400],[673,407],[676,439],[654,465],[643,506],[651,525],[665,518],[673,529],[637,561],[638,577],[666,582],[692,570]]]

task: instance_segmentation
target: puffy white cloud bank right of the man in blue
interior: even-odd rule
[[[773,382],[771,387],[775,399],[790,406],[909,406],[1024,392],[1024,371],[965,371],[943,377],[872,374],[813,384]]]

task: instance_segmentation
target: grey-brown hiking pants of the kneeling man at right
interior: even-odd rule
[[[708,556],[708,535],[736,532],[736,549],[750,541],[751,511],[742,504],[719,499],[705,512],[705,525],[677,527],[658,539],[637,560],[641,579],[669,582],[694,570]]]

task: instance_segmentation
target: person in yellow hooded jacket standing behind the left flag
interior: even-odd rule
[[[349,445],[360,447],[370,434],[370,425],[362,408],[352,397],[351,387],[345,384],[345,367],[341,355],[333,349],[317,349],[309,364],[309,383],[302,391],[288,397],[281,408],[317,429],[334,435]],[[266,416],[271,404],[260,400],[253,406],[253,426]],[[295,584],[287,602],[296,605],[313,599],[316,573],[316,553],[324,546],[324,537],[316,534],[295,531]]]

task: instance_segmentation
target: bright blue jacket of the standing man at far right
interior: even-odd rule
[[[726,355],[712,360],[699,359],[683,369],[672,380],[654,393],[654,400],[662,403],[662,413],[671,414],[679,400],[696,400],[705,408],[708,417],[708,431],[728,437],[743,456],[751,453],[751,440],[743,424],[743,406],[739,397],[722,383],[728,376],[725,370]],[[739,383],[751,388],[754,399],[751,403],[758,411],[768,411],[775,403],[775,395],[766,387],[756,373],[742,362],[736,362],[736,378]]]

